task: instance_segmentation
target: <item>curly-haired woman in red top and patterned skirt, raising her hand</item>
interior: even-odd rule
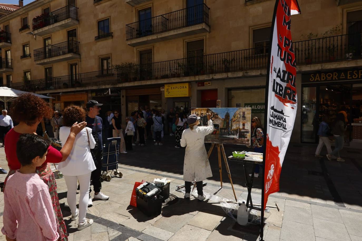
[[[14,174],[17,169],[20,169],[20,162],[16,156],[16,143],[20,135],[36,134],[38,124],[43,120],[43,118],[50,119],[54,112],[49,106],[49,103],[45,102],[34,94],[29,93],[21,95],[13,102],[12,113],[12,118],[19,122],[19,124],[14,126],[14,128],[12,128],[5,136],[5,139],[8,143],[8,145],[5,146],[5,155],[10,169],[7,178]],[[37,167],[37,174],[49,187],[49,193],[57,221],[59,241],[68,240],[68,235],[66,225],[63,221],[63,214],[59,207],[59,198],[58,193],[56,192],[55,177],[52,170],[50,169],[49,162],[59,163],[65,161],[68,158],[73,147],[75,136],[85,127],[86,124],[87,123],[85,122],[79,124],[74,123],[68,139],[66,143],[64,143],[60,152],[50,145],[47,150],[46,162]],[[7,178],[5,179],[5,188]]]

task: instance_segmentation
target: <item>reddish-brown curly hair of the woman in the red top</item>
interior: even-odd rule
[[[22,94],[11,105],[11,117],[28,126],[35,124],[39,118],[53,117],[54,111],[49,103],[34,94]]]

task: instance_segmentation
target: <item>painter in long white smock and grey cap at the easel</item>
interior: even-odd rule
[[[207,113],[207,126],[197,126],[200,117],[192,114],[187,118],[189,128],[182,132],[181,147],[186,147],[184,159],[185,198],[190,198],[191,182],[196,181],[197,199],[205,199],[202,181],[212,177],[211,167],[205,149],[204,139],[214,130],[210,113]]]

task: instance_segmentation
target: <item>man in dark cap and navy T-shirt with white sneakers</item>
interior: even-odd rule
[[[87,127],[92,129],[92,135],[94,140],[96,140],[98,144],[98,148],[91,149],[93,152],[94,164],[96,164],[96,170],[92,172],[90,175],[90,179],[93,183],[94,189],[94,199],[100,200],[108,200],[109,196],[104,195],[101,192],[102,183],[100,181],[101,172],[102,172],[102,160],[103,160],[103,143],[102,143],[102,129],[103,129],[103,121],[102,118],[99,117],[99,111],[101,110],[101,106],[103,104],[98,103],[95,100],[90,100],[87,102],[87,116],[85,117],[85,121],[87,122]],[[89,200],[88,207],[93,205],[92,198],[90,197],[90,192],[92,189],[89,188]]]

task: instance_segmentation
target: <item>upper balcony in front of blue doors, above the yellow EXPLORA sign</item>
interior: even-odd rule
[[[184,8],[126,25],[126,42],[140,46],[167,39],[180,38],[210,31],[206,4]]]

